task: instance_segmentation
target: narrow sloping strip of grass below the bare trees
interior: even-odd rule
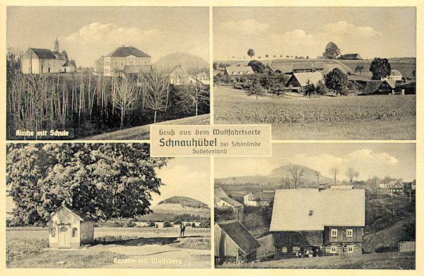
[[[205,114],[196,117],[158,122],[154,125],[209,125],[209,117],[209,114]],[[150,126],[151,125],[131,127],[126,130],[117,130],[116,132],[108,132],[81,138],[81,140],[148,140],[150,139]]]

